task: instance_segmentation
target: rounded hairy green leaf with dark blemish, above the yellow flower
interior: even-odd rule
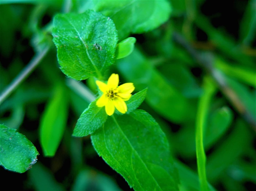
[[[62,72],[76,80],[102,78],[114,62],[118,40],[114,22],[87,10],[82,14],[57,14],[53,26],[53,42]]]

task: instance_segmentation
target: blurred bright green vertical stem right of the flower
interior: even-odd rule
[[[197,161],[197,171],[200,182],[200,189],[203,191],[209,190],[208,182],[206,178],[206,155],[204,152],[203,145],[203,130],[206,124],[206,119],[208,115],[209,105],[211,97],[215,91],[214,86],[208,81],[209,79],[204,79],[204,93],[199,100],[197,117],[196,117],[196,161]]]

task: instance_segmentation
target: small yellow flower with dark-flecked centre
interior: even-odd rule
[[[107,84],[96,80],[100,91],[103,92],[102,96],[96,102],[98,107],[105,106],[106,113],[110,116],[113,115],[115,108],[121,113],[127,111],[127,105],[124,101],[127,101],[132,96],[132,92],[135,89],[133,83],[124,83],[118,86],[119,77],[118,74],[112,74],[107,81]]]

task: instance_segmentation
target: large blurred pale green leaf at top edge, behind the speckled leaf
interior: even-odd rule
[[[168,1],[92,1],[85,2],[80,12],[85,9],[94,9],[115,22],[120,39],[130,33],[143,33],[159,27],[168,20],[171,7]]]

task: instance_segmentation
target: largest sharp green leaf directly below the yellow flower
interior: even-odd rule
[[[167,138],[147,112],[114,114],[91,140],[98,154],[134,190],[178,190]]]

